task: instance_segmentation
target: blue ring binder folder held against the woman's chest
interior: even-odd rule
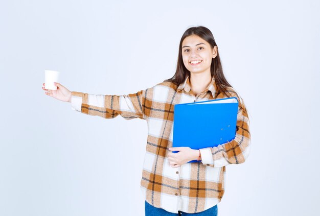
[[[202,149],[231,141],[236,136],[237,114],[236,97],[176,104],[172,147]]]

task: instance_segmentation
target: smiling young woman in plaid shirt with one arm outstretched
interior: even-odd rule
[[[246,160],[250,133],[245,105],[223,75],[218,46],[209,29],[193,27],[182,35],[175,75],[151,88],[127,95],[100,95],[69,91],[59,83],[56,86],[57,90],[42,89],[53,98],[71,102],[73,110],[147,121],[141,180],[146,215],[217,215],[224,194],[225,166]],[[239,102],[233,140],[200,150],[172,148],[175,104],[230,97]],[[186,125],[186,133],[192,127]],[[188,163],[191,160],[199,162]]]

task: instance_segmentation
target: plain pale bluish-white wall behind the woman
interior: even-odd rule
[[[249,111],[252,151],[226,167],[222,215],[319,215],[319,1],[0,1],[0,215],[144,215],[147,124],[71,110],[174,74],[189,27],[214,34]]]

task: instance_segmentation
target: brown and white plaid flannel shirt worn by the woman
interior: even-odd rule
[[[145,200],[169,212],[196,213],[221,201],[224,194],[225,166],[243,163],[250,151],[249,119],[236,91],[227,91],[239,102],[237,131],[233,140],[217,147],[200,149],[201,162],[171,167],[167,155],[172,147],[174,105],[226,98],[216,92],[214,78],[203,92],[194,95],[187,77],[179,86],[164,81],[151,88],[127,95],[72,92],[72,109],[88,115],[125,119],[141,118],[148,124],[141,190]],[[186,133],[189,133],[186,126]]]

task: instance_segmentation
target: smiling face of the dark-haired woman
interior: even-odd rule
[[[190,35],[182,41],[182,59],[190,73],[210,73],[212,59],[218,54],[217,46],[210,44],[197,35]]]

